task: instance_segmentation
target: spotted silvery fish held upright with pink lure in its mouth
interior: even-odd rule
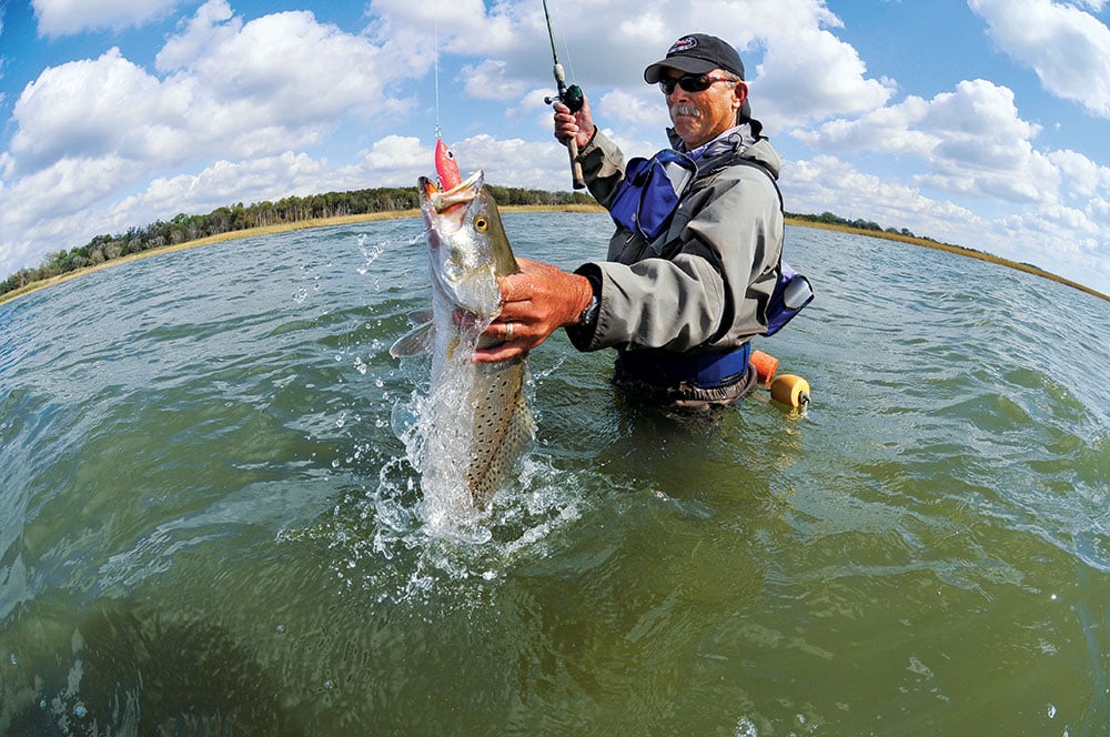
[[[454,158],[441,158],[438,147],[436,173],[442,185],[425,176],[417,182],[431,320],[390,353],[432,354],[428,395],[416,420],[421,489],[433,522],[465,523],[488,511],[534,438],[535,421],[525,394],[526,354],[498,363],[471,360],[476,349],[497,343],[482,334],[501,312],[497,277],[519,271],[497,203],[482,171],[463,180]]]

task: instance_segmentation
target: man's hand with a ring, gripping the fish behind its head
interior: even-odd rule
[[[472,361],[494,363],[523,355],[564,325],[578,322],[594,290],[589,280],[551,264],[517,258],[518,274],[503,276],[502,310],[485,335],[498,341],[474,352]]]

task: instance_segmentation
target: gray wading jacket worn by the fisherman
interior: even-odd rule
[[[728,143],[723,155],[699,162],[666,233],[647,243],[618,228],[608,261],[577,270],[601,282],[595,329],[567,329],[577,349],[720,350],[766,329],[784,228],[768,173],[778,176],[783,158],[764,138],[747,148],[740,135]],[[598,131],[579,160],[591,194],[608,206],[624,180],[624,154]]]

